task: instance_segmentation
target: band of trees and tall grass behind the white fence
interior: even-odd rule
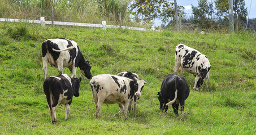
[[[218,29],[228,26],[228,0],[197,0],[198,6],[192,5],[193,17],[186,18],[184,7],[177,3],[180,22],[189,22],[199,28]],[[153,25],[153,21],[162,21],[163,27],[175,23],[173,1],[166,0],[2,0],[0,17],[34,19],[44,16],[55,21],[73,21],[119,25]],[[245,0],[233,0],[235,26],[242,28],[248,16]],[[255,20],[250,20],[251,25]]]

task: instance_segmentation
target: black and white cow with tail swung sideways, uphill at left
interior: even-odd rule
[[[88,79],[92,78],[89,61],[84,60],[77,43],[69,39],[47,39],[42,43],[42,61],[44,79],[47,74],[48,63],[58,67],[59,74],[62,74],[63,67],[70,69],[71,78],[76,78],[76,69],[80,68],[81,73]]]

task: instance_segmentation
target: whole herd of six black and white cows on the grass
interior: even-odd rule
[[[85,61],[79,46],[69,39],[47,39],[42,43],[42,61],[44,71],[44,93],[50,109],[51,123],[57,122],[56,109],[60,104],[65,105],[65,120],[70,116],[72,97],[79,96],[81,78],[76,78],[76,69],[90,80],[93,101],[96,105],[96,118],[101,117],[103,104],[118,104],[120,111],[114,116],[124,112],[128,118],[132,108],[136,116],[137,100],[141,96],[142,88],[146,81],[139,79],[136,73],[124,71],[117,75],[101,74],[92,76],[89,61]],[[47,66],[58,68],[59,75],[46,78]],[[70,69],[72,75],[63,74],[63,68]],[[210,62],[205,55],[193,48],[179,44],[175,50],[175,74],[168,75],[157,93],[160,102],[159,109],[166,113],[168,105],[172,105],[173,112],[178,116],[179,104],[181,106],[181,119],[184,117],[184,104],[189,96],[189,86],[183,77],[177,75],[183,70],[195,76],[193,89],[202,86],[204,80],[210,84]]]

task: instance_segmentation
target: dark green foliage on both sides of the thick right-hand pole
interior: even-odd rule
[[[199,28],[220,28],[220,25],[228,25],[229,19],[229,4],[228,0],[198,0],[198,7],[192,5],[194,19],[192,22]],[[244,28],[240,21],[246,21],[248,15],[247,8],[245,8],[244,0],[233,1],[234,18],[236,20],[236,28]]]

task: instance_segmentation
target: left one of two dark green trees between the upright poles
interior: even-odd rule
[[[198,7],[192,5],[194,19],[192,22],[202,28],[216,27],[216,20],[219,19],[215,12],[214,3],[207,0],[197,0]]]

